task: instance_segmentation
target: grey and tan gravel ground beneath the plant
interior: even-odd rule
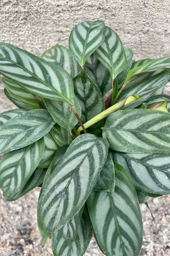
[[[170,94],[169,88],[167,94]],[[12,108],[15,107],[4,95],[0,84],[0,113]],[[0,190],[0,256],[53,255],[50,240],[41,247],[41,235],[37,227],[39,192],[40,188],[35,188],[14,202],[5,202]],[[139,255],[170,256],[170,195],[150,198],[147,202],[156,222],[152,220],[146,205],[142,204],[144,238]],[[84,256],[102,255],[92,238]]]

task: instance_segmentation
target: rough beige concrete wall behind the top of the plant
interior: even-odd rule
[[[41,56],[68,46],[73,27],[103,20],[134,51],[134,59],[170,55],[169,0],[0,0],[2,42]]]

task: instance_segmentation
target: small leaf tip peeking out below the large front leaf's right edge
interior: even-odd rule
[[[73,243],[73,241],[75,241],[76,239],[83,208],[84,205],[69,222],[67,222],[62,228],[57,230],[62,238],[65,239],[69,248],[71,247],[71,243]]]

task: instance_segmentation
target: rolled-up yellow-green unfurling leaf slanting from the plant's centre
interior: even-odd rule
[[[113,113],[113,112],[119,110],[120,108],[132,103],[133,101],[135,101],[137,99],[144,99],[144,98],[139,98],[136,95],[131,95],[131,96],[121,100],[120,102],[116,103],[115,105],[111,106],[110,108],[104,110],[103,112],[96,115],[95,117],[93,117],[92,119],[87,121],[86,123],[84,123],[84,128],[87,129],[91,125],[94,125],[95,123],[101,121],[102,119],[104,119],[105,117],[110,115],[111,113]],[[78,129],[77,129],[78,132],[80,132],[82,130],[83,130],[82,127],[78,127]]]

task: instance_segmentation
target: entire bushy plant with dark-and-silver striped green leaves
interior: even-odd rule
[[[170,193],[170,57],[132,57],[99,20],[41,58],[0,44],[18,107],[0,114],[0,187],[6,201],[41,187],[38,226],[54,255],[83,255],[94,234],[105,255],[138,256],[139,203]]]

